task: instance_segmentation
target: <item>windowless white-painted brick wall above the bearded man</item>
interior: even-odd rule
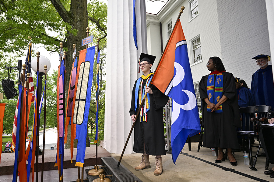
[[[224,66],[250,87],[251,76],[259,69],[252,57],[270,55],[265,1],[222,0],[217,7]]]

